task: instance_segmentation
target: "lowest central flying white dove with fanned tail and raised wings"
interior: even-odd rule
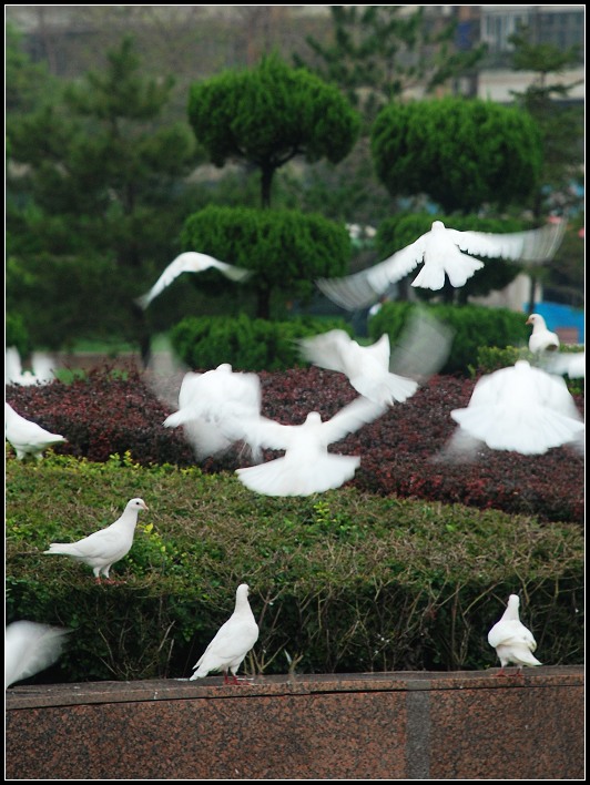
[[[281,425],[265,417],[242,424],[247,438],[274,450],[282,458],[236,469],[246,488],[265,496],[309,496],[339,488],[350,480],[360,465],[358,456],[328,452],[328,445],[372,422],[386,410],[385,405],[356,398],[332,419],[322,421],[311,411],[302,425]]]

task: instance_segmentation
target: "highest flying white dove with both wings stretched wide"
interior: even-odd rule
[[[413,286],[438,290],[448,276],[451,286],[458,288],[484,267],[472,254],[539,264],[552,258],[564,230],[566,222],[559,222],[507,234],[460,232],[435,221],[429,232],[384,262],[342,278],[318,278],[316,285],[334,303],[354,310],[375,303],[391,284],[424,262]]]

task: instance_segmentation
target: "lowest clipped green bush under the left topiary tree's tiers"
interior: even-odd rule
[[[234,370],[288,370],[307,365],[297,339],[329,329],[352,328],[340,318],[302,316],[289,322],[189,316],[170,333],[175,353],[191,368],[216,368],[230,363]]]

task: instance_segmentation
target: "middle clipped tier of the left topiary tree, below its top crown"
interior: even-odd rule
[[[182,244],[254,271],[243,286],[254,288],[262,319],[271,318],[274,293],[308,300],[315,279],[343,275],[352,253],[345,226],[321,215],[216,205],[186,220]]]

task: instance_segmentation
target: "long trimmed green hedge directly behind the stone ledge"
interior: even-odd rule
[[[112,570],[123,583],[98,585],[90,568],[42,553],[136,496],[150,511]],[[543,664],[582,661],[577,526],[350,487],[277,499],[234,475],[51,452],[7,461],[6,512],[7,622],[74,630],[41,680],[185,677],[243,581],[261,628],[248,673],[495,667],[487,633],[512,592]]]

